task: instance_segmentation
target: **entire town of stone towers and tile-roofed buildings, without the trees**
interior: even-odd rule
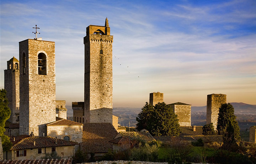
[[[61,158],[60,163],[66,164],[78,151],[97,160],[110,151],[135,147],[134,139],[145,143],[161,141],[166,145],[191,145],[199,141],[210,146],[223,144],[222,135],[205,135],[203,126],[191,123],[191,104],[186,102],[167,104],[177,115],[179,136],[154,136],[148,129],[132,131],[118,124],[118,117],[113,115],[112,43],[107,18],[104,26],[86,28],[84,101],[72,102],[73,118],[67,119],[65,100],[56,100],[55,42],[37,36],[19,42],[18,59],[8,60],[4,70],[4,89],[11,110],[4,134],[10,137],[12,146],[1,154],[2,163],[39,160],[54,152]],[[217,130],[219,109],[227,103],[228,95],[206,96],[206,124]],[[164,93],[149,93],[151,106],[163,102]],[[241,143],[256,144],[256,126],[250,128],[249,137],[249,142]]]

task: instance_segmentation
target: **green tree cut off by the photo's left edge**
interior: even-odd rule
[[[8,107],[8,100],[6,98],[6,90],[0,90],[0,137],[2,139],[3,151],[9,151],[11,148],[11,142],[8,136],[4,135],[5,122],[10,118],[11,110]]]

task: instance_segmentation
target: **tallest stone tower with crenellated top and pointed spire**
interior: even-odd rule
[[[112,123],[112,43],[110,27],[89,25],[84,37],[84,122]]]

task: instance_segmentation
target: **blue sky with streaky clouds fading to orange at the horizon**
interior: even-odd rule
[[[106,17],[113,107],[143,107],[152,92],[167,104],[204,106],[213,93],[256,104],[255,0],[1,0],[0,88],[37,24],[38,37],[55,42],[56,99],[84,101],[83,37]]]

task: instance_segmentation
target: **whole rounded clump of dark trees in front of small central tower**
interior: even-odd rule
[[[146,102],[136,118],[137,129],[147,129],[155,136],[178,136],[181,132],[177,115],[164,102],[151,106]]]

